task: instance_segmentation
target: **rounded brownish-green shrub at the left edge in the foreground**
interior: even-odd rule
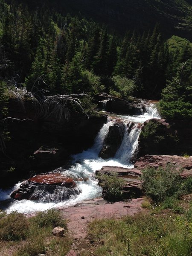
[[[12,212],[0,219],[0,238],[5,241],[26,239],[29,221],[22,213]]]

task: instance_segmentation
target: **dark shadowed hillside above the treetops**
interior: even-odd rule
[[[10,2],[10,1],[8,1]],[[108,24],[109,29],[119,34],[136,29],[139,32],[153,29],[160,23],[166,38],[177,35],[192,41],[191,0],[19,0],[37,5],[50,6],[57,11],[72,15],[80,14],[99,23]]]

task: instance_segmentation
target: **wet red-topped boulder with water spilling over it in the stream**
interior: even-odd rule
[[[24,181],[11,197],[22,200],[62,201],[71,196],[79,195],[80,190],[72,178],[60,173],[37,175]]]

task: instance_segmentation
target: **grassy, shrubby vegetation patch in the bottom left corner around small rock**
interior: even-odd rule
[[[8,215],[1,213],[0,247],[17,244],[18,249],[12,254],[14,256],[36,256],[41,253],[64,256],[70,250],[72,241],[67,234],[62,238],[52,236],[52,229],[59,225],[66,228],[66,221],[55,209],[38,212],[31,218],[17,212]]]

